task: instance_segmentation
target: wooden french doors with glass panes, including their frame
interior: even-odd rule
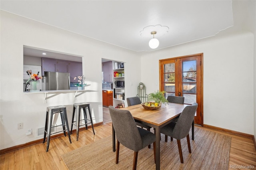
[[[198,103],[194,123],[203,125],[203,53],[163,59],[160,64],[160,90],[165,97],[183,96],[185,104]]]

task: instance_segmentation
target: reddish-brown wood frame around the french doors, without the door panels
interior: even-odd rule
[[[167,60],[173,60],[173,59],[180,59],[180,58],[185,58],[185,57],[194,57],[194,56],[200,56],[200,71],[201,71],[201,73],[200,73],[200,86],[201,86],[201,89],[200,89],[200,93],[201,93],[201,95],[200,95],[200,101],[201,101],[201,106],[200,106],[200,108],[199,108],[199,110],[200,110],[200,113],[199,114],[201,114],[201,121],[200,121],[200,124],[201,124],[201,126],[203,126],[204,125],[204,101],[203,101],[203,97],[204,97],[204,94],[203,94],[203,92],[204,92],[204,90],[203,90],[203,75],[204,75],[204,69],[203,69],[203,53],[197,53],[197,54],[192,54],[192,55],[184,55],[184,56],[180,56],[180,57],[173,57],[173,58],[168,58],[168,59],[161,59],[161,60],[159,60],[159,89],[160,90],[162,90],[162,88],[161,88],[161,82],[162,82],[162,79],[161,79],[161,62],[162,61],[167,61]],[[175,66],[176,67],[176,66]]]

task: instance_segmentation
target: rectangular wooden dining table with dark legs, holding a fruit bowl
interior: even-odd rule
[[[186,104],[168,103],[167,105],[162,104],[159,109],[147,110],[139,105],[133,105],[121,108],[122,110],[128,110],[132,114],[136,122],[148,125],[155,128],[156,134],[156,170],[160,170],[160,129],[168,123],[172,122],[173,119],[178,117],[183,109],[188,106]],[[114,127],[112,126],[112,142],[113,152],[116,151],[116,138]],[[192,124],[192,139],[194,140],[194,121]]]

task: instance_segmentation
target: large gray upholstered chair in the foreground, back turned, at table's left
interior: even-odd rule
[[[154,159],[156,162],[156,136],[154,133],[137,127],[130,111],[108,107],[112,125],[116,133],[116,164],[119,159],[120,143],[126,148],[134,150],[133,170],[136,170],[138,151],[153,143]]]

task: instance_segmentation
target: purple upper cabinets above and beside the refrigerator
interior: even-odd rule
[[[82,63],[42,57],[42,76],[44,71],[70,73],[70,82],[72,82],[74,77],[82,75]]]

